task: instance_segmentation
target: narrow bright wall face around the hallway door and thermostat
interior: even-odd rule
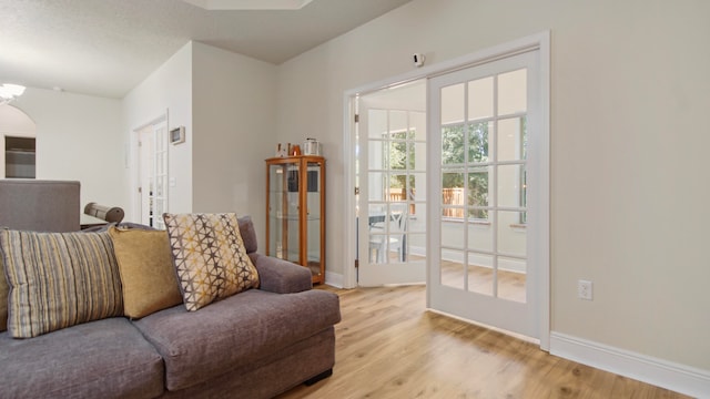
[[[186,140],[182,144],[169,146],[169,176],[175,185],[169,187],[168,208],[172,213],[192,212],[192,42],[185,44],[163,65],[151,73],[143,82],[123,99],[122,145],[131,145],[131,165],[138,156],[135,130],[168,112],[168,129],[185,126]],[[131,192],[135,186],[138,171],[126,168],[123,177],[129,182]],[[126,188],[128,190],[128,188]],[[140,222],[135,198],[125,208],[125,221]]]

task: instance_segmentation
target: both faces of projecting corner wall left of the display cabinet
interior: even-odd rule
[[[275,65],[190,42],[125,96],[124,139],[168,110],[169,129],[186,130],[185,143],[169,147],[170,212],[251,215],[263,237],[275,103]]]

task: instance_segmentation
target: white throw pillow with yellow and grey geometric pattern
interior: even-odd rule
[[[163,214],[187,310],[258,286],[236,215]]]

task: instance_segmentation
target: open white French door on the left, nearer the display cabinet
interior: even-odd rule
[[[358,102],[361,286],[426,282],[426,85],[417,84]],[[420,106],[392,101],[412,95]]]

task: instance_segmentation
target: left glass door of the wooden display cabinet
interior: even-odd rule
[[[298,173],[297,163],[268,166],[268,254],[300,264]]]

